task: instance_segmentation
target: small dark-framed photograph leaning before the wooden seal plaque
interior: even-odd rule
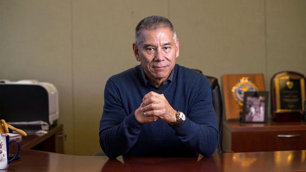
[[[244,92],[241,122],[267,122],[268,92]]]

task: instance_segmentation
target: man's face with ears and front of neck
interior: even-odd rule
[[[134,43],[133,49],[136,60],[152,82],[166,80],[179,55],[178,39],[174,41],[168,28],[141,31],[139,47]]]

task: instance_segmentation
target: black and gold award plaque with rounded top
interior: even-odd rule
[[[295,72],[276,73],[271,79],[271,110],[275,122],[300,122],[304,114],[305,77]]]

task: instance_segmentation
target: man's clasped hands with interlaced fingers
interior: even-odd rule
[[[156,92],[144,95],[140,107],[134,112],[135,118],[141,123],[154,122],[159,118],[163,122],[175,123],[177,122],[176,113],[166,97]]]

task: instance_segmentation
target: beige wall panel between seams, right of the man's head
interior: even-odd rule
[[[177,63],[205,75],[265,73],[264,1],[170,0]]]

